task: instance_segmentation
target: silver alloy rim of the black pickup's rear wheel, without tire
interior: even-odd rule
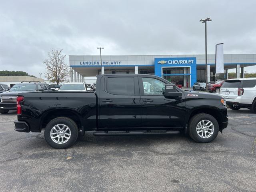
[[[64,124],[57,124],[51,129],[50,136],[53,142],[57,144],[64,144],[70,139],[71,131],[68,126]]]

